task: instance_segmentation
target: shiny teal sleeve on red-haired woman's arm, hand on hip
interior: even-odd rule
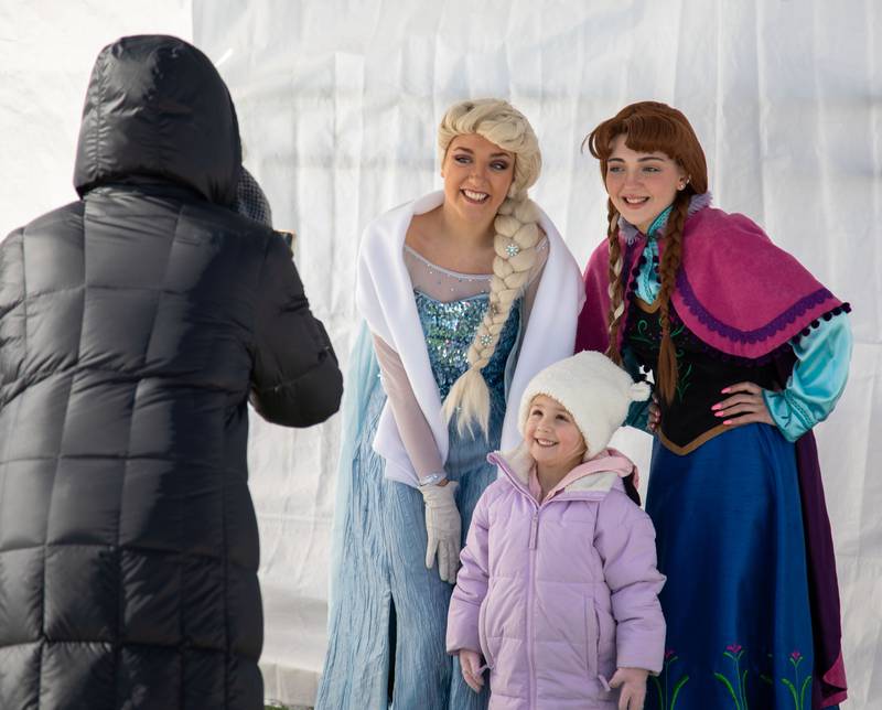
[[[848,380],[851,326],[842,313],[820,321],[809,335],[792,343],[797,362],[779,392],[763,391],[768,412],[788,441],[796,441],[833,410]]]

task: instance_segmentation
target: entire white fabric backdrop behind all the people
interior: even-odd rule
[[[32,7],[33,6],[33,7]],[[192,6],[192,25],[190,9]],[[191,32],[192,26],[192,34]],[[603,236],[584,133],[623,105],[682,109],[719,206],[743,212],[854,306],[851,379],[818,427],[851,685],[882,697],[882,7],[874,0],[23,0],[0,6],[0,232],[72,200],[76,127],[95,54],[119,34],[194,39],[237,103],[246,164],[295,227],[314,311],[345,367],[357,327],[358,235],[440,184],[434,128],[465,97],[533,121],[534,197],[580,263]],[[254,419],[268,696],[311,702],[324,653],[340,422]],[[648,438],[619,444],[646,470]],[[870,698],[876,698],[871,702]]]

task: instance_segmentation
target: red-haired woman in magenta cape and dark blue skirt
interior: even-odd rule
[[[832,707],[846,679],[811,428],[846,385],[849,306],[753,222],[710,206],[680,111],[633,104],[587,143],[609,229],[577,349],[652,372],[660,409],[646,509],[669,650],[647,704]]]

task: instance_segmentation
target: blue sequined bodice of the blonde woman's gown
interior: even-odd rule
[[[453,383],[469,367],[466,358],[469,346],[487,310],[490,295],[480,293],[459,301],[441,302],[415,290],[413,297],[426,336],[432,374],[438,384],[441,399],[444,399]],[[499,334],[496,351],[482,370],[494,397],[505,397],[505,364],[517,340],[520,324],[518,306],[519,301],[516,301],[505,326],[503,326],[503,332]]]

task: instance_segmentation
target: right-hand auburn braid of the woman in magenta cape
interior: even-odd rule
[[[677,389],[677,352],[670,337],[670,295],[677,286],[677,272],[682,260],[682,230],[689,213],[689,195],[679,193],[665,234],[665,251],[658,267],[662,289],[658,293],[658,321],[662,325],[662,345],[658,352],[658,388],[670,404]]]

